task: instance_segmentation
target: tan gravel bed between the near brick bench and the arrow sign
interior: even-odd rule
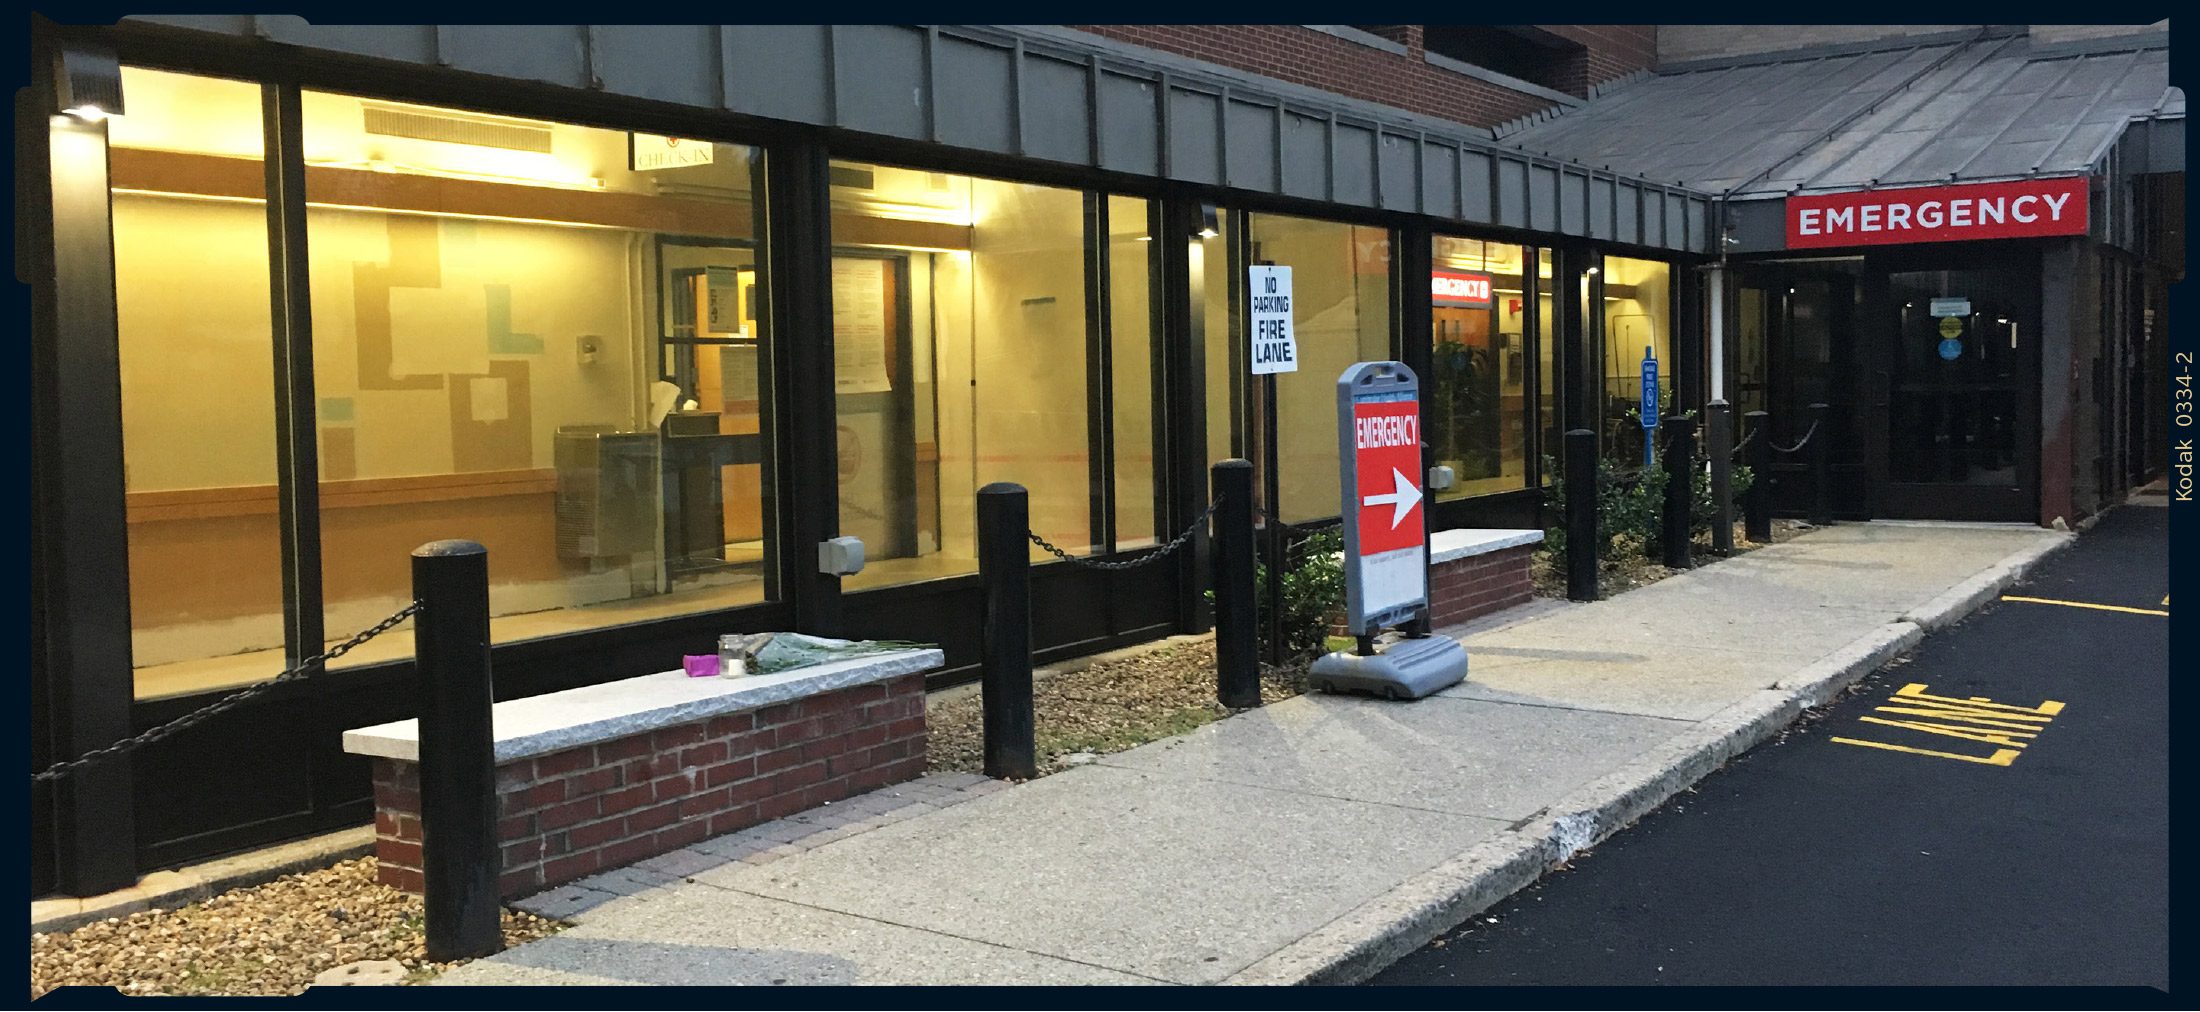
[[[1261,702],[1289,700],[1307,689],[1305,667],[1265,671]],[[1085,757],[1184,735],[1232,711],[1214,702],[1214,640],[1173,642],[1080,671],[1047,675],[1032,686],[1038,774],[1078,766]],[[933,700],[931,768],[979,772],[986,726],[977,693]]]

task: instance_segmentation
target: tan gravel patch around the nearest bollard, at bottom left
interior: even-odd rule
[[[321,970],[396,959],[407,983],[455,964],[422,950],[418,895],[374,882],[374,858],[231,889],[172,911],[108,917],[66,933],[31,935],[31,997],[64,986],[123,994],[297,994]],[[504,944],[563,924],[504,911]]]

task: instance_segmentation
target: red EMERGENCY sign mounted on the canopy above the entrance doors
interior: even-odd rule
[[[1786,198],[1789,249],[2086,233],[2088,180],[2026,178]]]

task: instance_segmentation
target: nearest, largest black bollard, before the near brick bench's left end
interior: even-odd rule
[[[504,948],[497,873],[497,770],[488,671],[488,550],[414,550],[414,669],[420,678],[420,878],[427,957]]]

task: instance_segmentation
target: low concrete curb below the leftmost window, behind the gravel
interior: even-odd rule
[[[108,917],[139,911],[189,906],[231,889],[273,882],[293,871],[312,871],[374,851],[374,827],[337,829],[304,840],[277,843],[174,871],[152,871],[130,889],[103,895],[31,900],[31,933],[77,931]]]

